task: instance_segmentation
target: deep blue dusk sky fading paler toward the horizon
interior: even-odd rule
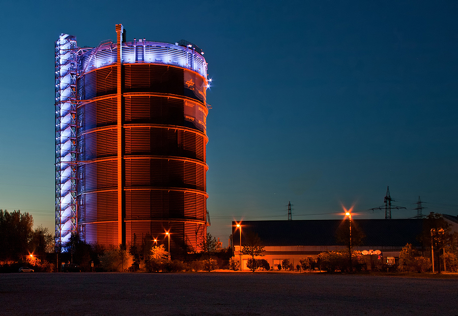
[[[54,41],[201,47],[207,191],[224,245],[232,220],[458,214],[455,1],[0,0],[0,209],[54,231]]]

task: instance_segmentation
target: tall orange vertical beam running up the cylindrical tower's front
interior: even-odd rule
[[[118,45],[118,63],[117,63],[117,142],[118,142],[118,245],[125,242],[123,238],[123,121],[122,121],[122,43],[123,43],[123,24],[116,24],[116,35]]]

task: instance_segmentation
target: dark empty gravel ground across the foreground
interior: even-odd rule
[[[458,279],[281,273],[0,274],[1,315],[458,315]]]

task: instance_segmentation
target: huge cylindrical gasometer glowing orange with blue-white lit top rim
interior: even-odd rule
[[[186,41],[126,42],[121,24],[116,32],[116,43],[76,49],[79,233],[198,251],[208,225],[203,52]]]

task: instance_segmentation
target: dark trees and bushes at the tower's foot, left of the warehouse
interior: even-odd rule
[[[232,249],[220,249],[207,233],[200,245],[202,251],[189,251],[169,260],[164,245],[154,245],[147,235],[142,246],[119,245],[103,247],[89,244],[78,234],[72,234],[64,252],[56,252],[54,234],[48,228],[35,229],[32,215],[15,210],[0,210],[0,272],[17,272],[20,266],[36,271],[58,271],[61,263],[72,263],[81,271],[211,271],[228,265]]]

